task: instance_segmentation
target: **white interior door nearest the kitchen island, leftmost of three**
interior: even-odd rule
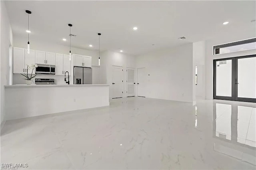
[[[123,97],[122,82],[123,81],[123,67],[112,66],[112,84],[111,84],[111,97]]]

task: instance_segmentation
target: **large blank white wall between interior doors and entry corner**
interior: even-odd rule
[[[146,67],[146,97],[193,102],[192,43],[136,57]]]

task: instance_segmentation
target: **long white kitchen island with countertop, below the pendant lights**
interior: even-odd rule
[[[6,85],[6,120],[109,105],[109,85]]]

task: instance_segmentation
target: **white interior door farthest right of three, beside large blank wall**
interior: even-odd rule
[[[146,97],[146,69],[145,68],[138,68],[137,69],[137,96],[139,97]]]

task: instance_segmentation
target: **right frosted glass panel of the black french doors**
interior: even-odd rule
[[[238,59],[238,97],[256,98],[256,57]]]

